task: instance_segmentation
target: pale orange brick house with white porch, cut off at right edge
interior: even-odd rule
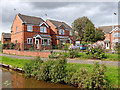
[[[105,49],[112,49],[116,43],[120,43],[120,27],[118,25],[99,28],[105,33]]]

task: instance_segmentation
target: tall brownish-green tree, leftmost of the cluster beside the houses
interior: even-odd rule
[[[78,39],[81,41],[84,38],[84,33],[85,33],[85,27],[88,22],[91,22],[87,17],[83,16],[81,18],[76,19],[72,23],[72,29],[73,31],[76,31],[76,35]]]

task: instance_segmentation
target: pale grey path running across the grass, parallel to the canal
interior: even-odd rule
[[[17,55],[8,55],[0,53],[0,56],[7,56],[12,58],[18,58],[18,59],[34,59],[35,57],[27,57],[27,56],[17,56]],[[41,58],[44,61],[49,60],[49,58]],[[105,65],[112,65],[112,66],[118,66],[118,63],[120,61],[101,61],[101,60],[75,60],[75,59],[69,59],[67,60],[68,63],[81,63],[81,64],[94,64],[95,62],[99,62],[99,64],[105,64]]]

